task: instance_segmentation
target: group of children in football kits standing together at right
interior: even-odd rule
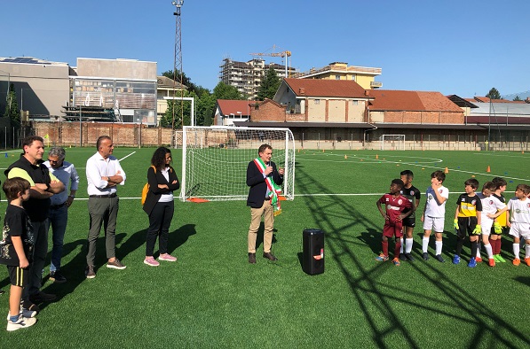
[[[420,203],[420,190],[412,185],[414,174],[410,170],[402,171],[400,179],[392,180],[390,192],[376,201],[376,206],[384,218],[383,252],[376,260],[389,260],[388,239],[395,237],[396,244],[392,263],[400,265],[400,261],[414,258],[411,255],[413,231],[415,227],[415,210]],[[435,235],[435,259],[445,262],[442,257],[443,232],[446,215],[446,202],[449,190],[443,185],[446,174],[434,171],[431,174],[431,186],[426,190],[426,201],[421,220],[423,221],[422,251],[423,260],[429,260],[429,240],[431,232]],[[468,267],[475,268],[480,258],[481,244],[487,253],[490,267],[495,263],[505,262],[501,256],[501,236],[510,230],[513,236],[514,260],[512,264],[520,264],[519,250],[521,237],[526,241],[525,262],[530,266],[530,186],[518,184],[515,198],[506,204],[502,192],[507,182],[495,177],[492,182],[485,182],[481,192],[479,181],[470,178],[464,182],[465,192],[456,200],[454,227],[456,232],[456,249],[453,263],[459,264],[463,243],[469,235],[471,242],[471,259]],[[383,206],[384,205],[384,209]],[[405,241],[403,236],[405,235]],[[405,243],[405,246],[403,244]]]

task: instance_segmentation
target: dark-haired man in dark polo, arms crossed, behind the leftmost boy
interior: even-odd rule
[[[36,303],[49,301],[56,298],[54,294],[40,291],[42,286],[42,275],[44,261],[48,254],[48,210],[50,209],[50,198],[65,190],[65,186],[53,174],[48,167],[43,165],[44,140],[40,136],[28,136],[22,141],[24,152],[20,159],[8,167],[4,174],[7,178],[20,177],[28,180],[31,184],[29,189],[29,200],[24,202],[24,209],[31,221],[33,235],[35,237],[35,249],[33,263],[29,269],[28,287],[24,287],[22,293],[23,308],[38,312]]]

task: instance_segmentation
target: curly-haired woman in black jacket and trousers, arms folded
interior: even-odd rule
[[[149,229],[146,237],[146,259],[144,263],[151,267],[158,267],[160,263],[154,260],[153,251],[156,237],[160,235],[158,260],[176,261],[177,258],[168,253],[168,238],[170,236],[171,219],[174,212],[173,190],[178,190],[180,183],[173,167],[170,167],[171,151],[160,147],[154,151],[151,167],[147,169],[149,191],[144,204],[144,211],[149,215]]]

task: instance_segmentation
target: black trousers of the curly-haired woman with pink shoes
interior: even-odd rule
[[[149,229],[146,237],[146,256],[152,256],[156,237],[158,241],[158,252],[168,252],[168,239],[170,237],[170,225],[175,211],[175,204],[170,202],[158,202],[149,214]]]

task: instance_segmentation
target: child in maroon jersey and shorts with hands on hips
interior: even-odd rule
[[[376,257],[376,260],[388,260],[388,238],[396,238],[396,246],[394,249],[394,259],[392,263],[399,266],[399,248],[401,243],[399,237],[403,236],[403,218],[408,217],[415,211],[415,206],[401,195],[400,190],[403,189],[403,181],[400,179],[392,180],[390,185],[390,193],[384,194],[376,201],[377,209],[384,218],[383,227],[383,253]],[[384,204],[385,210],[381,204]]]

